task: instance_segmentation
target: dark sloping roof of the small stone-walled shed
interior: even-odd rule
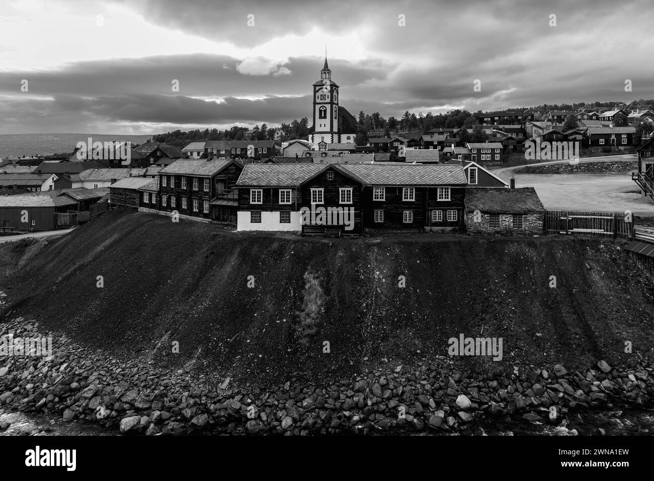
[[[497,188],[467,188],[466,209],[468,212],[496,212],[498,214],[526,214],[529,212],[545,212],[533,187],[521,189]]]

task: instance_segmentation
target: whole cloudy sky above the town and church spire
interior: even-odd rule
[[[651,0],[0,0],[0,133],[310,118],[325,45],[355,115],[651,99],[653,9]]]

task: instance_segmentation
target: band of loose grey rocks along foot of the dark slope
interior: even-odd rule
[[[9,332],[23,338],[52,334],[23,318],[0,324],[0,335]],[[440,358],[415,367],[387,365],[329,385],[289,378],[240,388],[226,380],[211,390],[184,369],[126,365],[64,336],[53,345],[51,359],[5,357],[0,406],[142,435],[469,435],[492,420],[566,425],[572,414],[614,403],[653,406],[654,363],[640,356],[619,367],[606,361],[583,371],[530,367],[499,378],[464,377]]]

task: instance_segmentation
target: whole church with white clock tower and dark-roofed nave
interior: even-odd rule
[[[313,84],[313,127],[309,129],[309,142],[314,150],[328,150],[329,144],[354,146],[358,124],[350,112],[338,105],[338,90],[325,56],[320,80]]]

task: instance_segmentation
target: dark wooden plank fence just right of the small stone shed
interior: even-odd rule
[[[574,234],[627,237],[634,232],[634,220],[627,222],[624,212],[571,212],[545,211],[545,232],[548,234]]]

